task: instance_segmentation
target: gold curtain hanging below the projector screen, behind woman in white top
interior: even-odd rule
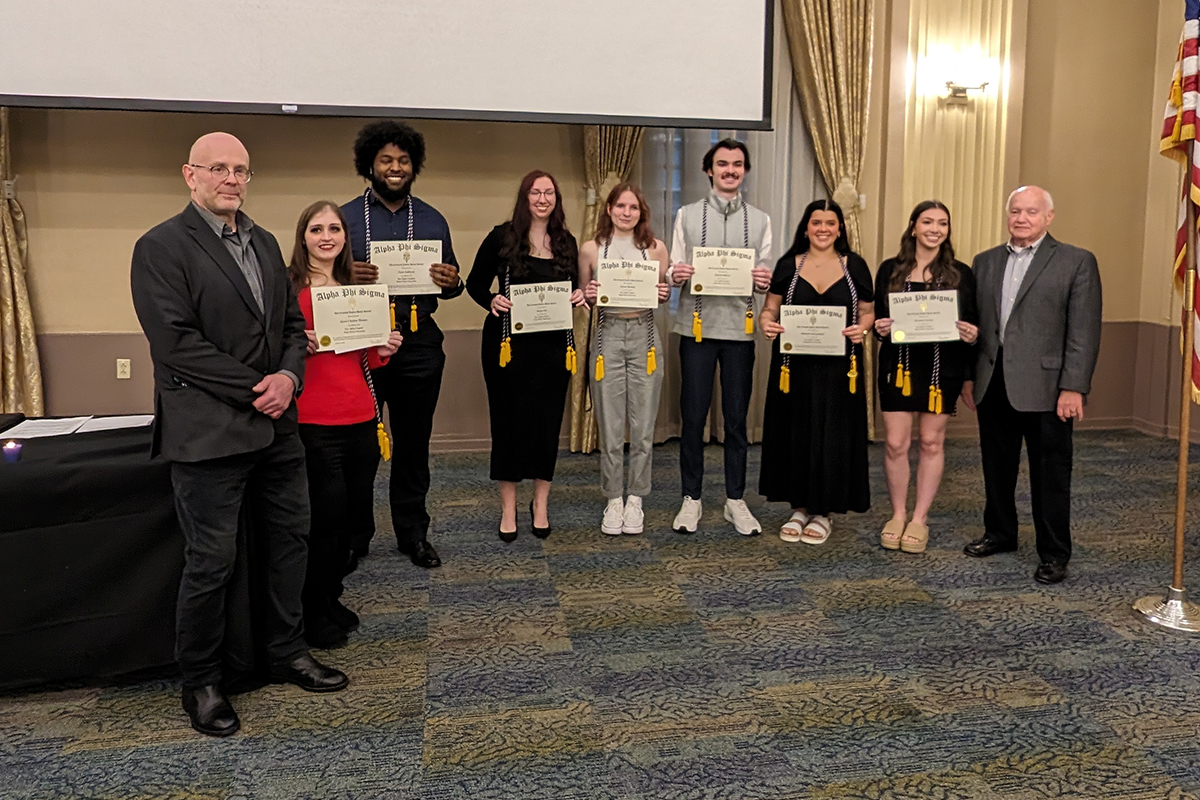
[[[588,205],[583,212],[580,243],[595,235],[596,221],[604,212],[604,201],[617,184],[629,179],[642,143],[642,128],[624,125],[588,125],[583,130],[583,170],[587,180]],[[592,452],[599,433],[592,413],[588,392],[588,349],[595,309],[575,311],[575,349],[580,369],[571,377],[571,451]]]

